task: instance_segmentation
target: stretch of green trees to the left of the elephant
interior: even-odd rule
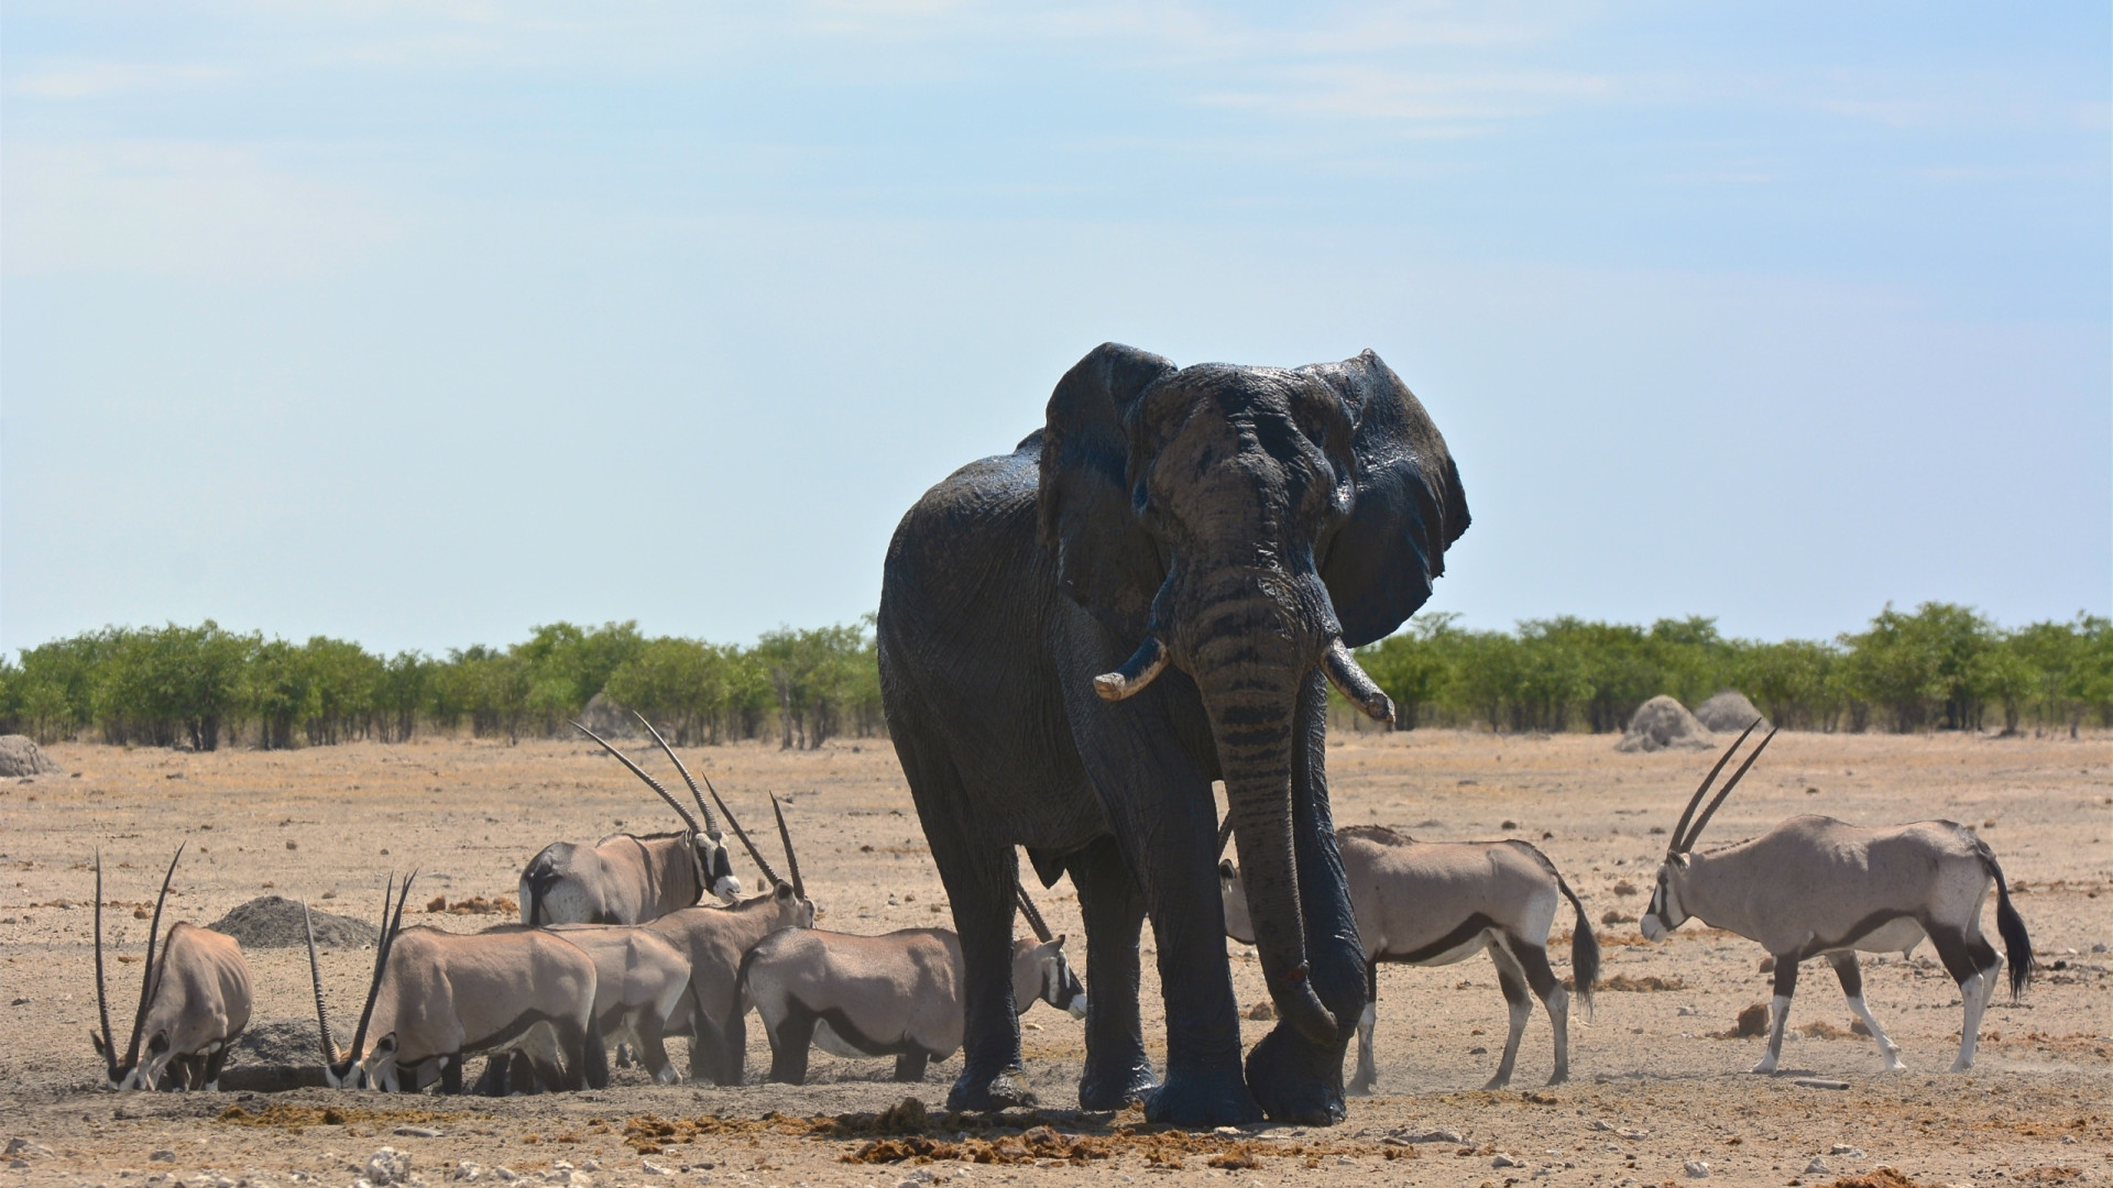
[[[775,731],[784,746],[881,727],[871,617],[767,632],[752,647],[644,636],[636,621],[547,624],[524,643],[431,657],[357,643],[104,628],[0,657],[0,729],[40,742],[260,748],[404,742],[416,731],[549,738],[596,693],[689,746]]]

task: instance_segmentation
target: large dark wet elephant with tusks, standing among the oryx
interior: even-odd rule
[[[1431,596],[1466,531],[1445,440],[1365,351],[1297,370],[1101,345],[1042,429],[904,514],[877,617],[881,702],[961,939],[947,1106],[1035,1097],[1012,1002],[1014,846],[1086,922],[1078,1099],[1181,1127],[1329,1125],[1365,958],[1329,814],[1327,683],[1380,721],[1352,647]],[[1247,873],[1276,1027],[1240,1061],[1217,805]],[[1152,917],[1166,1002],[1139,1023]]]

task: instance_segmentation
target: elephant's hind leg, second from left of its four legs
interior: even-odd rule
[[[1122,1110],[1149,1097],[1152,1059],[1137,1015],[1137,934],[1145,896],[1114,837],[1099,837],[1065,858],[1078,907],[1086,917],[1086,1072],[1078,1078],[1082,1110]]]

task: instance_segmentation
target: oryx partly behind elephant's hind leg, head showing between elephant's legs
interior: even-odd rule
[[[1012,1002],[1027,1013],[1040,998],[1086,1017],[1086,987],[1050,936],[1042,913],[1018,892],[1037,941],[1012,943]],[[961,939],[947,928],[904,928],[885,936],[786,930],[742,960],[742,989],[771,1038],[771,1080],[807,1082],[807,1046],[839,1057],[896,1057],[896,1080],[923,1080],[925,1061],[961,1046]]]

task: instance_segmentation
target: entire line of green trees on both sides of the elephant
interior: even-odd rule
[[[2005,630],[1969,607],[1887,607],[1821,641],[1724,638],[1714,619],[1648,628],[1574,617],[1475,632],[1452,615],[1359,651],[1399,725],[1619,731],[1640,704],[1739,689],[1790,729],[2062,729],[2113,725],[2113,621]],[[549,738],[596,695],[685,746],[775,738],[814,748],[877,736],[873,617],[775,630],[754,645],[644,636],[636,621],[547,624],[509,647],[446,657],[357,643],[186,628],[106,628],[0,657],[0,731],[40,742],[330,746],[418,731]]]

